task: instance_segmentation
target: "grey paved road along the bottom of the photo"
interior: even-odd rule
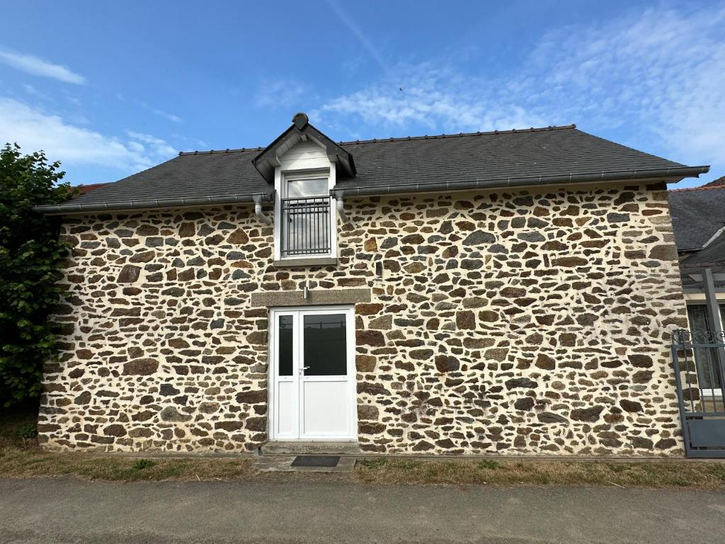
[[[722,542],[725,493],[0,479],[1,543]]]

